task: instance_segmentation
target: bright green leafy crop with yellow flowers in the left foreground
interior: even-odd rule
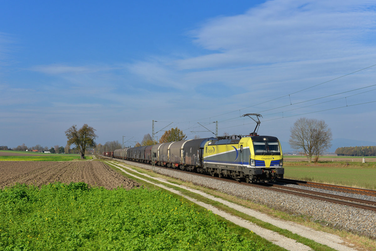
[[[0,204],[2,250],[263,250],[160,190],[17,184]]]

